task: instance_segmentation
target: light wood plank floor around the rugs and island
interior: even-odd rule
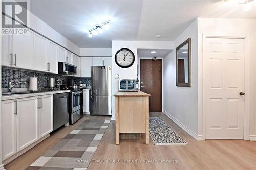
[[[245,140],[205,140],[196,141],[178,127],[163,113],[151,113],[160,116],[175,130],[188,145],[144,144],[141,140],[120,140],[115,144],[115,122],[111,122],[105,132],[93,161],[110,160],[179,160],[179,163],[90,163],[88,169],[256,169],[256,142]],[[93,116],[101,118],[99,116]],[[84,117],[79,120],[82,122]],[[62,137],[66,136],[75,125],[63,128],[36,147],[7,164],[8,169],[25,169],[41,155],[47,152]]]

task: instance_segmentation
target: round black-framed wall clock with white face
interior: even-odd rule
[[[116,52],[115,61],[119,67],[128,68],[134,63],[135,57],[131,50],[122,48]]]

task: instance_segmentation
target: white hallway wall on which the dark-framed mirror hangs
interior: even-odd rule
[[[191,38],[191,87],[176,86],[176,51],[164,58],[163,110],[191,133],[198,132],[198,34],[197,19],[174,41],[175,48]]]

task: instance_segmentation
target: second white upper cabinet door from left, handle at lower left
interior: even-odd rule
[[[28,35],[12,35],[13,66],[33,69],[33,32]]]

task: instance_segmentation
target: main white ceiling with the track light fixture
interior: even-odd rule
[[[197,17],[256,18],[237,0],[30,0],[30,11],[80,48],[111,48],[111,40],[169,40]],[[88,37],[96,23],[110,30]],[[156,38],[156,35],[161,38]]]

